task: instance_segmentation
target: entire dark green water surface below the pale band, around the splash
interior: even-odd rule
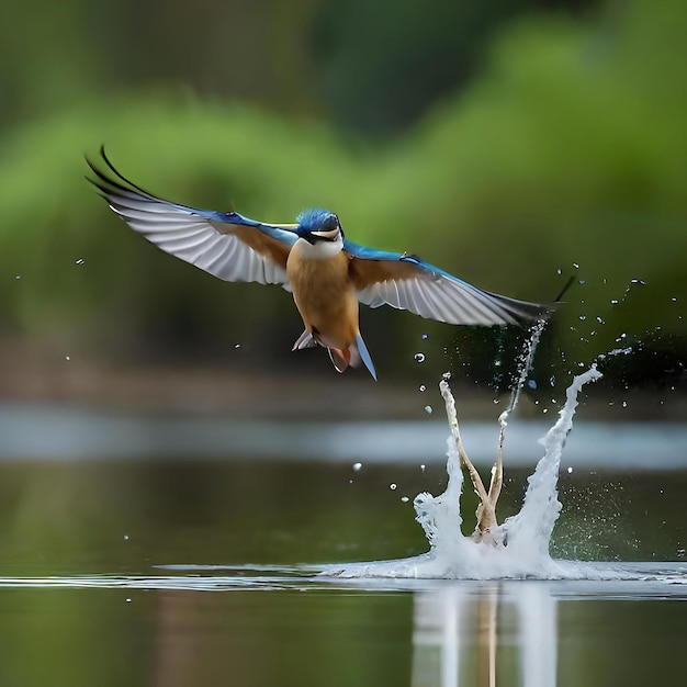
[[[0,462],[0,685],[682,684],[687,469],[564,455],[553,555],[643,562],[630,581],[333,579],[427,551],[412,502],[446,486],[440,450],[357,468]]]

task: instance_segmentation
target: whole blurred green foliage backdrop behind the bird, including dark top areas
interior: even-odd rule
[[[281,222],[328,206],[353,240],[491,291],[551,300],[574,273],[584,283],[559,334],[574,326],[575,345],[593,342],[583,359],[619,333],[683,336],[684,2],[502,3],[470,21],[441,3],[431,20],[419,3],[380,15],[317,0],[206,4],[105,13],[72,0],[38,21],[12,10],[18,31],[0,48],[5,336],[104,358],[222,359],[249,341],[268,367],[286,360],[300,334],[290,296],[216,282],[128,232],[83,181],[82,154],[103,142],[165,198]],[[363,314],[363,333],[407,361],[408,331],[428,325],[384,309]]]

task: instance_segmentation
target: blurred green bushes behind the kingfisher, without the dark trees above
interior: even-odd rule
[[[315,5],[297,7],[301,16],[314,16]],[[56,54],[56,69],[91,49],[83,46],[93,37],[80,33],[88,16],[79,14],[78,31],[66,34],[78,45]],[[115,27],[142,30],[127,18],[117,15]],[[296,103],[297,119],[267,114],[165,85],[154,64],[131,55],[122,57],[132,60],[127,69],[153,71],[117,86],[108,71],[115,71],[113,41],[67,79],[74,91],[55,81],[55,94],[32,105],[33,116],[16,115],[31,109],[26,98],[2,129],[8,295],[0,326],[20,337],[90,340],[104,354],[222,357],[227,345],[251,341],[259,358],[278,367],[285,359],[299,334],[288,294],[225,286],[117,230],[82,180],[81,153],[105,140],[125,173],[164,196],[214,207],[233,200],[248,215],[283,221],[307,205],[330,206],[353,240],[418,252],[493,291],[551,299],[578,263],[584,284],[558,319],[561,333],[574,327],[566,336],[581,360],[624,331],[642,336],[660,326],[684,336],[676,304],[687,297],[686,27],[678,0],[660,10],[647,0],[611,3],[584,20],[519,20],[500,30],[468,88],[404,136],[357,145],[322,119],[303,116],[317,110],[307,97]],[[170,35],[174,49],[179,36]],[[153,43],[134,41],[132,55]],[[306,52],[299,55],[294,64]],[[26,93],[53,76],[42,59],[43,72],[30,65]],[[3,63],[4,72],[11,68]],[[223,68],[235,74],[237,58]],[[364,313],[363,327],[373,349],[394,341],[391,367],[412,361],[416,335],[432,326],[387,309]]]

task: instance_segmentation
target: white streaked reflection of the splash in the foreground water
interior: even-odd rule
[[[416,594],[413,687],[555,686],[556,600],[545,584],[519,583],[517,593],[508,584],[476,595],[458,587]],[[511,629],[500,627],[503,616]],[[519,669],[497,671],[499,649],[513,647]]]

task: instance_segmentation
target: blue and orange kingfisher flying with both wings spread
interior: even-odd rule
[[[293,294],[305,330],[292,350],[322,346],[338,372],[364,364],[376,381],[360,335],[359,303],[391,305],[452,325],[520,325],[547,317],[554,304],[489,293],[406,252],[348,240],[339,217],[320,207],[295,224],[201,210],[148,193],[122,176],[101,147],[101,169],[88,178],[110,209],[164,251],[229,282],[279,284]]]

